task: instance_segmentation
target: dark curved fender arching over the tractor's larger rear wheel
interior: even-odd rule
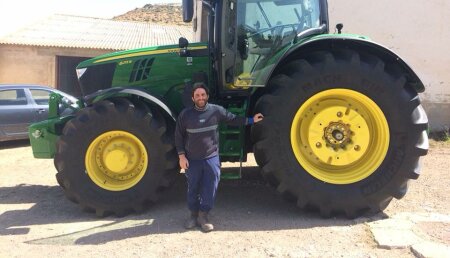
[[[419,76],[411,69],[411,67],[392,50],[368,40],[363,36],[355,35],[336,35],[328,34],[326,36],[319,36],[311,38],[307,41],[299,43],[289,49],[280,59],[277,67],[272,70],[272,74],[276,73],[277,68],[283,66],[292,59],[298,58],[303,53],[320,50],[333,50],[333,49],[353,49],[355,51],[362,50],[367,53],[371,53],[381,59],[387,61],[387,63],[397,64],[407,76],[408,82],[418,92],[424,92],[425,86],[420,80]],[[271,76],[272,76],[271,74]],[[271,77],[270,76],[270,77]],[[269,77],[269,78],[270,78]]]

